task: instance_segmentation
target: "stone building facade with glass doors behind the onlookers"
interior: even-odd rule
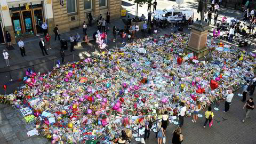
[[[60,33],[82,27],[88,15],[97,20],[107,11],[110,20],[121,15],[121,0],[1,0],[0,44],[5,43],[5,31],[9,31],[12,43],[19,38],[43,34],[42,24],[47,23],[48,33],[59,25]]]

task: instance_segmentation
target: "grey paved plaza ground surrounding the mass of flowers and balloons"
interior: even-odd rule
[[[157,1],[157,9],[165,9],[170,5],[174,5],[173,1]],[[131,15],[131,17],[135,14],[135,5],[128,0],[122,1],[123,7],[127,10],[127,14]],[[199,17],[196,13],[197,10],[197,1],[186,1],[184,5],[190,6],[193,8],[195,12],[195,19]],[[151,7],[153,9],[153,7]],[[142,13],[147,15],[147,5],[143,5],[139,7],[138,15],[140,16]],[[223,15],[227,15],[227,17],[237,17],[239,20],[242,20],[242,12],[220,7],[219,10],[219,21]],[[127,18],[123,18],[127,19]],[[109,25],[110,31],[108,31],[108,47],[107,49],[116,49],[116,47],[122,47],[123,45],[120,43],[121,38],[117,36],[116,42],[111,42],[110,39],[113,38],[111,29],[113,26],[117,26],[119,29],[124,28],[124,22],[121,19],[111,22]],[[81,26],[82,27],[82,26]],[[60,30],[61,31],[61,30]],[[95,31],[97,31],[97,27],[89,27],[87,30],[88,35],[92,35]],[[174,31],[174,29],[170,26],[166,29],[162,29],[158,31],[158,35],[170,34]],[[187,27],[184,28],[183,33],[189,33],[190,31]],[[70,34],[79,33],[82,36],[82,28],[77,30],[70,31],[69,33],[61,34],[61,38],[69,39]],[[209,39],[212,34],[209,34]],[[46,73],[51,70],[53,66],[57,64],[57,61],[60,60],[60,42],[51,40],[52,49],[47,51],[49,53],[48,57],[44,57],[42,55],[41,50],[39,49],[39,38],[27,38],[24,39],[25,49],[27,57],[21,57],[20,50],[18,45],[14,45],[15,50],[8,51],[11,55],[12,59],[10,60],[11,67],[6,67],[5,62],[2,58],[2,62],[0,63],[0,76],[1,76],[1,85],[7,85],[7,94],[14,92],[17,90],[17,87],[20,86],[23,82],[21,81],[24,76],[24,71],[28,68],[35,69],[38,73]],[[141,34],[138,37],[142,37]],[[214,40],[215,41],[215,40]],[[126,39],[127,42],[127,39]],[[89,45],[83,45],[76,51],[71,53],[68,51],[65,52],[67,55],[65,58],[65,64],[68,62],[78,61],[83,59],[84,57],[89,57],[94,51],[93,45],[96,45],[95,41],[90,41]],[[232,44],[231,44],[232,45]],[[4,45],[0,46],[2,50]],[[69,46],[70,47],[70,44]],[[97,47],[97,46],[96,46]],[[252,46],[253,47],[253,46]],[[252,47],[248,47],[245,49],[247,52],[255,53]],[[98,48],[96,51],[100,52]],[[10,81],[12,79],[12,81]],[[238,97],[238,93],[242,93],[242,89],[239,89],[234,93],[234,98],[232,101],[232,105],[230,106],[230,110],[228,113],[223,113],[225,102],[217,103],[217,105],[213,105],[213,107],[219,107],[219,111],[213,110],[214,113],[214,124],[211,129],[206,126],[203,129],[203,124],[205,118],[199,118],[196,123],[191,121],[191,117],[186,117],[184,125],[181,129],[182,134],[184,135],[184,140],[182,143],[194,144],[194,143],[246,143],[246,144],[255,144],[256,143],[256,112],[253,110],[250,113],[250,118],[247,118],[245,123],[242,123],[242,119],[245,116],[245,110],[243,111],[244,103],[241,102],[241,97]],[[1,93],[4,93],[4,90],[0,90]],[[256,92],[255,92],[256,93]],[[254,101],[256,99],[255,93],[252,96]],[[201,111],[201,114],[204,115],[204,111]],[[0,144],[5,143],[51,143],[46,138],[41,138],[36,135],[32,137],[28,137],[27,131],[34,129],[34,125],[31,123],[25,123],[22,121],[22,114],[19,109],[14,109],[10,105],[0,104]],[[172,132],[177,127],[173,123],[170,123],[167,127],[167,138],[166,143],[171,144],[172,140]],[[143,135],[141,135],[143,137]],[[135,140],[132,143],[138,143]],[[150,138],[146,140],[146,144],[157,143],[157,139],[155,138],[155,133],[153,131],[150,132]]]

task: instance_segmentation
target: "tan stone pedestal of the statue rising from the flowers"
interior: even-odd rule
[[[196,21],[193,25],[190,25],[190,37],[187,47],[184,49],[183,53],[193,53],[198,59],[204,57],[209,53],[206,47],[207,42],[207,32],[211,27],[205,21]]]

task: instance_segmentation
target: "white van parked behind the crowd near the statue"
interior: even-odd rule
[[[175,15],[178,15],[177,21],[182,21],[182,16],[186,15],[186,21],[189,19],[189,17],[194,19],[194,11],[190,9],[190,7],[173,7],[170,6],[167,9],[164,10],[156,10],[154,12],[153,19],[154,20],[166,20],[168,22],[175,22]]]

